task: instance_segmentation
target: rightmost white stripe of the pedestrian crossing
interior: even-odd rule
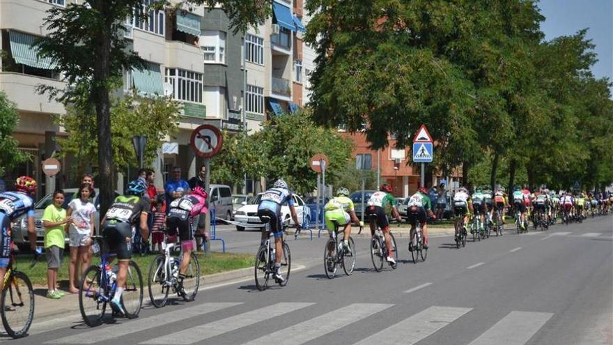
[[[510,312],[469,345],[526,344],[551,316],[551,313]]]

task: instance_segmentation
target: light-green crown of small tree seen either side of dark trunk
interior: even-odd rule
[[[68,137],[60,138],[63,154],[75,155],[77,164],[85,166],[98,155],[95,140],[96,121],[93,109],[72,106],[65,116],[57,116],[56,123],[62,125]],[[180,103],[169,98],[143,98],[126,95],[116,100],[111,107],[111,134],[114,166],[122,171],[134,167],[137,156],[132,145],[134,135],[146,135],[147,145],[143,162],[145,165],[157,157],[157,148],[162,146],[166,136],[172,136],[178,128]]]

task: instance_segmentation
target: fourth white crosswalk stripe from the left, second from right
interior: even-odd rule
[[[355,345],[412,345],[433,335],[437,330],[456,321],[460,316],[463,316],[471,310],[472,308],[429,307],[385,330],[357,342]]]

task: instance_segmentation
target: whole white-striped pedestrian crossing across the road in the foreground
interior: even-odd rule
[[[270,344],[274,342],[272,339],[280,339],[284,345],[300,345],[327,344],[323,339],[340,336],[343,343],[354,345],[416,344],[449,328],[449,325],[463,316],[474,313],[472,307],[433,305],[420,308],[411,315],[395,317],[398,308],[402,307],[405,306],[374,302],[341,307],[317,302],[274,302],[263,307],[254,307],[248,302],[205,302],[166,312],[157,309],[158,313],[153,316],[141,316],[115,325],[81,328],[67,337],[47,339],[46,342],[43,339],[42,343],[111,344],[131,337],[130,342],[133,344],[217,344],[222,339],[219,337],[229,336],[238,339],[233,344]],[[224,317],[215,319],[215,312],[223,313]],[[208,317],[201,318],[205,314]],[[393,321],[389,323],[375,322],[390,315]],[[498,321],[490,318],[483,320],[483,323],[491,324],[490,328],[480,329],[479,334],[472,335],[464,344],[471,339],[474,340],[470,345],[527,344],[552,316],[547,312],[510,311]],[[203,319],[203,322],[194,323],[193,320],[197,319]],[[297,320],[295,323],[287,322],[294,319]],[[167,325],[169,321],[187,321],[187,327]],[[253,333],[254,328],[249,326],[256,324],[258,327],[265,325],[261,328],[263,332]],[[356,325],[359,325],[359,332],[343,333],[343,328]],[[135,334],[141,337],[134,337]],[[240,336],[237,338],[237,335]]]

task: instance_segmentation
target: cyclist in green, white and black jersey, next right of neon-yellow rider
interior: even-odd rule
[[[396,208],[396,198],[391,195],[391,185],[387,183],[382,184],[379,188],[379,192],[374,192],[371,198],[368,199],[368,216],[376,219],[376,222],[370,222],[371,236],[375,236],[376,226],[381,228],[383,237],[385,238],[385,245],[387,246],[387,262],[396,263],[394,260],[394,254],[392,254],[393,248],[391,247],[391,240],[389,239],[389,220],[388,215],[393,215],[398,223],[402,222],[402,218],[398,214]]]

